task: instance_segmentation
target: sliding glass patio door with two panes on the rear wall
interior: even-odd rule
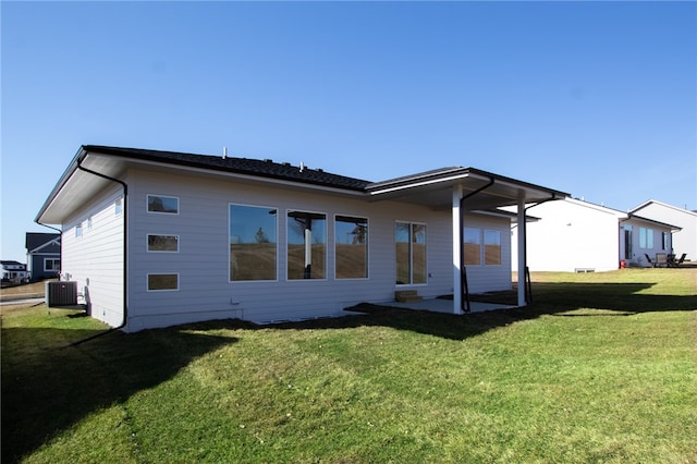
[[[394,241],[396,284],[426,283],[426,225],[398,222]]]

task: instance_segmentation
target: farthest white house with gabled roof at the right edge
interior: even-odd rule
[[[629,212],[680,227],[681,231],[673,235],[673,253],[677,257],[685,253],[686,259],[697,260],[697,211],[650,199]]]

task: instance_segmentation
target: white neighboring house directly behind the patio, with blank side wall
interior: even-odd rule
[[[625,266],[651,266],[657,253],[671,253],[671,224],[616,209],[565,198],[528,208],[538,218],[527,223],[527,266],[531,271],[588,272]],[[513,262],[517,269],[518,224],[513,227]]]

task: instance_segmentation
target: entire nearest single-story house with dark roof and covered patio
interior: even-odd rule
[[[36,221],[60,225],[62,274],[91,316],[136,331],[333,316],[402,290],[452,294],[461,314],[465,291],[512,289],[511,217],[497,208],[523,215],[526,203],[566,196],[474,168],[368,182],[272,160],[82,146]]]

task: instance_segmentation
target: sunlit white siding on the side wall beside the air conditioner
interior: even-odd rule
[[[62,277],[77,282],[91,316],[110,326],[123,320],[124,212],[115,213],[118,198],[123,198],[121,186],[103,191],[63,223],[62,234]],[[75,236],[78,223],[81,237]]]

